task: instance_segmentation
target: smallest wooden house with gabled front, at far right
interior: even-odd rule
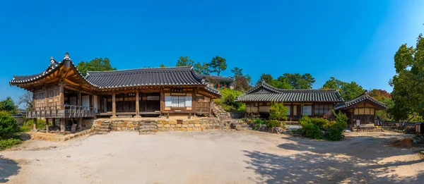
[[[386,109],[386,104],[370,97],[365,90],[359,97],[337,104],[334,109],[345,113],[349,118],[348,127],[354,128],[358,124],[375,123],[375,111]]]

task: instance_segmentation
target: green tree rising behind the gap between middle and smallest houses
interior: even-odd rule
[[[340,92],[341,97],[346,101],[354,99],[362,94],[365,89],[358,85],[356,82],[343,82],[341,80],[337,80],[334,77],[331,77],[330,80],[327,80],[322,89],[336,89]]]

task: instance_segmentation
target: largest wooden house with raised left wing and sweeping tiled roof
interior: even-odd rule
[[[27,118],[78,121],[85,117],[170,116],[210,114],[217,90],[191,66],[140,68],[88,72],[86,77],[65,54],[60,62],[50,59],[46,70],[35,75],[13,76],[10,85],[33,92],[33,108]]]

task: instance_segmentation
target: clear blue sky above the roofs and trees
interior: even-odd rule
[[[393,56],[424,32],[424,1],[3,1],[0,99],[12,75],[40,73],[69,51],[74,63],[108,57],[118,69],[222,56],[261,73],[334,76],[391,92]]]

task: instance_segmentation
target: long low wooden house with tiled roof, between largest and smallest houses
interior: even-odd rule
[[[261,82],[237,97],[246,103],[247,114],[269,117],[271,102],[282,102],[289,110],[289,121],[298,121],[303,114],[329,118],[336,104],[344,102],[337,90],[283,90]]]

